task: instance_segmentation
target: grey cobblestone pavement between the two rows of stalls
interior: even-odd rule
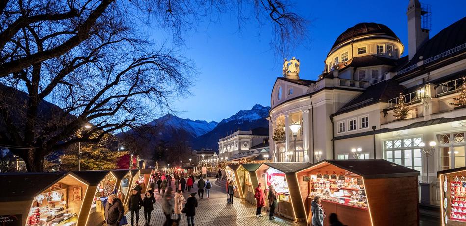
[[[198,207],[196,208],[195,225],[196,226],[304,226],[305,223],[293,223],[275,216],[275,221],[269,221],[268,212],[262,212],[264,215],[259,219],[256,218],[256,206],[246,201],[240,201],[239,198],[234,198],[233,205],[227,204],[227,195],[225,189],[215,184],[215,178],[209,178],[212,183],[212,189],[210,190],[210,199],[199,200]],[[197,180],[196,180],[197,181]],[[193,188],[192,192],[197,191],[197,188]],[[184,196],[187,198],[189,192],[186,192]],[[165,216],[161,210],[161,197],[158,195],[158,191],[155,192],[155,198],[157,202],[154,204],[154,211],[151,215],[151,226],[161,226],[165,222]],[[126,214],[128,223],[131,225],[131,213]],[[135,216],[134,216],[135,218]],[[135,219],[134,219],[135,220]],[[146,221],[144,220],[144,211],[139,211],[139,226],[144,226]],[[135,225],[135,222],[134,222]],[[181,226],[186,226],[186,217],[184,214],[181,215]]]

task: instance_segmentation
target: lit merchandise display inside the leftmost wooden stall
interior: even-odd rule
[[[77,212],[69,208],[67,189],[41,193],[32,202],[26,226],[74,226]]]

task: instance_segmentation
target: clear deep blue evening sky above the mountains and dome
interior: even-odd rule
[[[338,35],[360,22],[387,25],[405,44],[407,54],[408,0],[291,2],[295,2],[293,10],[310,25],[309,40],[294,47],[288,56],[279,56],[270,48],[269,24],[259,28],[251,19],[238,31],[235,15],[223,15],[215,24],[201,22],[184,36],[184,56],[194,61],[199,73],[191,88],[193,95],[172,103],[175,110],[181,111],[178,116],[218,122],[254,104],[270,106],[271,89],[281,76],[283,57],[300,59],[300,77],[316,79]],[[461,0],[421,2],[431,5],[431,37],[466,16]]]

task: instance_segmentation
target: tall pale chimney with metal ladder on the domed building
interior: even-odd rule
[[[430,12],[421,8],[419,0],[410,0],[408,5],[408,58],[411,60],[419,47],[429,40]]]

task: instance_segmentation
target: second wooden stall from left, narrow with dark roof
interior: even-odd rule
[[[78,171],[80,178],[89,183],[89,192],[84,196],[85,204],[82,207],[82,215],[89,216],[86,223],[92,222],[94,226],[104,223],[104,208],[107,198],[115,194],[117,178],[111,171]],[[81,225],[81,222],[78,222]]]

